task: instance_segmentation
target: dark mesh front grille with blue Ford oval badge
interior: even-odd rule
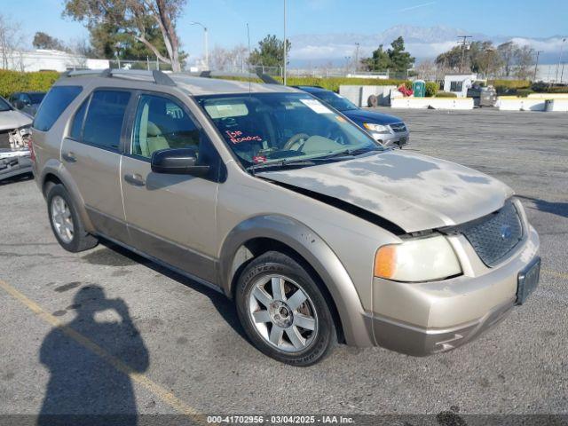
[[[505,206],[482,220],[461,227],[461,233],[487,266],[501,262],[523,239],[523,225],[515,205]]]

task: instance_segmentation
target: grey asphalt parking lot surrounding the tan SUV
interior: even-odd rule
[[[568,414],[568,114],[381,111],[405,119],[407,149],[500,178],[525,204],[540,288],[499,327],[429,358],[340,346],[288,367],[247,342],[224,296],[110,244],[59,248],[34,181],[12,181],[0,414]]]

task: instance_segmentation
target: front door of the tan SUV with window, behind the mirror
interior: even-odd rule
[[[122,158],[124,209],[136,248],[183,272],[215,282],[217,180],[154,173],[154,151],[196,147],[212,157],[209,139],[177,99],[141,94],[130,154]]]

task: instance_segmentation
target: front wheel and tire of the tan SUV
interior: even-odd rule
[[[278,288],[283,296],[275,294]],[[324,359],[337,343],[326,297],[290,256],[269,251],[252,260],[237,281],[235,299],[248,338],[273,359],[307,367]]]

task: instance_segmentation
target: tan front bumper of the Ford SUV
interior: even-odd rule
[[[454,241],[454,247],[462,242]],[[517,253],[491,269],[469,264],[460,277],[422,283],[375,279],[371,316],[375,343],[425,356],[471,341],[504,319],[516,304],[518,273],[533,262],[538,248],[539,236],[529,227]],[[467,250],[456,252],[460,257],[472,255]]]

